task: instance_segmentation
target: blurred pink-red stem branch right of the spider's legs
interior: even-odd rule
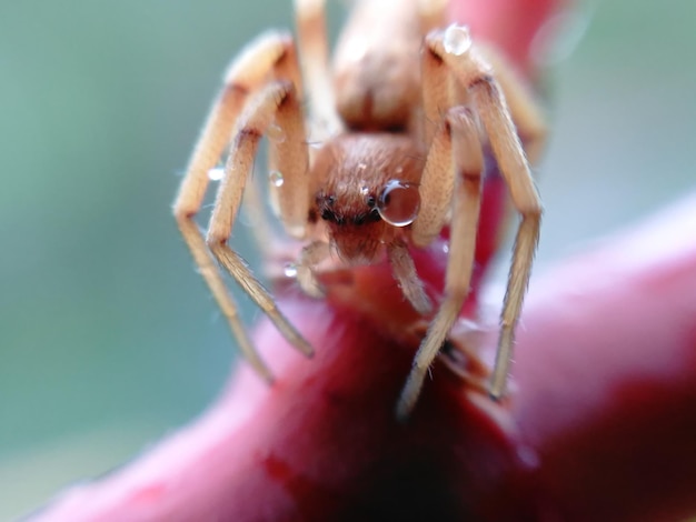
[[[535,282],[524,317],[511,413],[547,496],[569,520],[693,515],[696,194]]]

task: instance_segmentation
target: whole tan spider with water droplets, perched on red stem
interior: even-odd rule
[[[248,338],[218,263],[292,345],[311,355],[309,342],[227,243],[259,141],[268,137],[272,207],[285,231],[306,244],[297,262],[300,288],[322,295],[317,265],[327,258],[344,265],[386,258],[404,298],[428,318],[397,403],[397,415],[404,419],[469,291],[483,151],[489,147],[521,215],[489,383],[490,395],[499,399],[539,235],[541,205],[529,162],[541,148],[544,119],[498,53],[473,42],[465,26],[441,29],[446,1],[356,3],[337,43],[334,83],[324,0],[295,1],[297,44],[285,32],[267,32],[232,61],[181,182],[176,220],[257,372],[272,379]],[[309,101],[307,122],[304,99]],[[203,237],[193,218],[208,173],[228,147]],[[428,245],[444,227],[450,230],[445,292],[432,312],[409,248]]]

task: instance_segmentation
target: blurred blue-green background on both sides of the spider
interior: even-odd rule
[[[170,203],[230,57],[290,20],[274,0],[0,0],[0,520],[225,382],[233,344]],[[587,27],[551,69],[537,273],[696,188],[694,20],[693,0],[606,0],[566,26]]]

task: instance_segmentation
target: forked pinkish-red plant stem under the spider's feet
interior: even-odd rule
[[[411,353],[320,301],[268,324],[196,423],[37,520],[678,520],[696,511],[696,194],[537,278],[508,408],[434,369],[392,419]],[[495,332],[491,334],[495,335]],[[389,518],[391,516],[391,519]]]

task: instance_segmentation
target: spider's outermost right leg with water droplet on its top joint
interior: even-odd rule
[[[450,27],[431,42],[434,50],[443,57],[457,80],[470,93],[500,172],[510,190],[513,203],[521,214],[503,305],[500,339],[490,383],[490,394],[499,399],[505,394],[508,369],[513,359],[515,327],[519,319],[539,238],[541,203],[500,87],[491,76],[490,66],[470,41],[466,44],[466,39],[468,39],[468,31],[465,28]]]

